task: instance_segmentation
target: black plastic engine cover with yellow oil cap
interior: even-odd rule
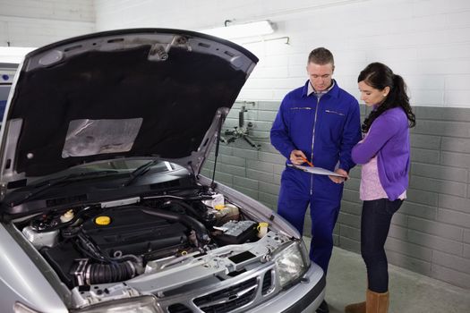
[[[142,212],[141,207],[109,209],[86,221],[82,232],[109,257],[167,250],[181,247],[188,241],[184,224],[151,216]]]

